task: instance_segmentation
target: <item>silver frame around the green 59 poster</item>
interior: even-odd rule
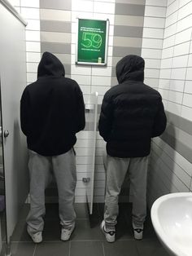
[[[106,22],[105,60],[104,60],[104,63],[82,62],[82,61],[78,61],[79,20],[98,20],[98,19],[76,18],[76,22],[77,22],[77,31],[76,31],[76,64],[80,64],[80,65],[81,65],[81,64],[82,64],[82,65],[95,65],[95,66],[107,66],[107,51],[108,51],[108,37],[109,37],[109,19],[107,19],[107,20],[98,20],[98,21],[105,21],[105,22]]]

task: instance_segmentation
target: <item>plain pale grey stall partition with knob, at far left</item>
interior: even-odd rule
[[[0,24],[2,162],[9,243],[28,195],[27,149],[20,130],[20,97],[26,86],[25,26],[7,1],[0,2]]]

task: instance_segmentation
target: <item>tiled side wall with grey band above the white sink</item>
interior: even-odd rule
[[[168,0],[159,92],[168,126],[152,143],[149,204],[169,192],[189,192],[192,175],[192,1]]]

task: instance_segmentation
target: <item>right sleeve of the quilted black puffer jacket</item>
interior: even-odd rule
[[[152,138],[162,135],[167,125],[167,117],[164,112],[164,104],[162,99],[159,102],[158,112],[155,116],[154,126],[152,130]]]

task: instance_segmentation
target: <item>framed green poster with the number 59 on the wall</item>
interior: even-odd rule
[[[109,20],[78,19],[76,64],[106,65]]]

